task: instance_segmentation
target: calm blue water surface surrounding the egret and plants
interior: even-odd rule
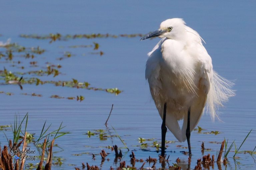
[[[150,155],[158,157],[154,147],[148,147],[148,151],[143,151],[138,142],[138,137],[161,139],[161,119],[151,99],[148,84],[144,78],[145,62],[147,52],[149,52],[158,39],[139,41],[140,38],[98,38],[98,39],[70,39],[68,41],[36,40],[20,38],[20,34],[49,33],[66,34],[147,34],[158,29],[159,24],[168,18],[183,18],[188,26],[195,29],[205,40],[204,45],[211,55],[214,69],[223,77],[235,80],[234,89],[236,96],[231,98],[221,108],[221,119],[223,122],[212,122],[211,118],[205,114],[198,126],[207,131],[220,131],[218,135],[197,134],[191,135],[192,163],[194,168],[196,160],[202,157],[200,153],[201,141],[205,142],[206,148],[211,148],[205,154],[215,154],[220,148],[220,144],[211,144],[209,141],[221,142],[224,137],[229,141],[236,141],[240,145],[250,129],[255,128],[255,84],[256,70],[256,3],[255,1],[18,1],[1,2],[0,19],[0,41],[6,42],[11,38],[11,42],[17,42],[26,47],[40,46],[47,51],[42,55],[36,55],[33,59],[38,62],[39,67],[29,67],[31,59],[22,57],[14,58],[20,60],[25,66],[25,71],[39,70],[46,67],[47,61],[53,64],[61,64],[59,75],[55,78],[51,76],[40,77],[42,80],[71,80],[77,79],[80,82],[88,81],[92,87],[114,88],[117,87],[124,92],[118,96],[102,91],[92,91],[68,87],[56,87],[52,84],[45,85],[23,85],[21,91],[15,85],[2,85],[0,91],[12,92],[13,96],[0,94],[0,125],[10,125],[14,121],[14,114],[24,116],[29,112],[28,132],[36,133],[38,137],[44,121],[48,125],[52,124],[52,130],[63,125],[67,126],[65,131],[70,134],[56,139],[56,143],[63,147],[64,151],[54,153],[54,156],[65,159],[63,164],[54,166],[54,169],[70,169],[80,167],[81,162],[88,162],[90,165],[100,165],[101,158],[96,155],[96,160],[91,159],[91,154],[99,153],[101,147],[117,144],[123,147],[117,138],[108,138],[101,141],[98,135],[83,135],[88,130],[105,129],[106,133],[115,134],[112,125],[130,149],[134,149],[137,158],[144,160]],[[68,48],[69,45],[90,45],[93,42],[100,44],[99,50],[102,56],[91,54],[92,48]],[[64,47],[64,48],[63,48]],[[4,51],[3,48],[0,48]],[[75,56],[64,60],[56,60],[62,57],[65,51],[69,51]],[[15,72],[23,71],[17,67],[11,67],[11,63],[3,63],[0,59],[0,68]],[[29,77],[25,75],[24,77]],[[1,80],[3,82],[3,80]],[[24,96],[21,93],[37,93],[42,97]],[[64,97],[82,95],[85,100],[54,99],[51,95]],[[111,117],[108,122],[108,129],[104,123],[108,117],[111,105],[114,104]],[[108,131],[109,130],[109,131]],[[12,138],[11,130],[6,131]],[[167,132],[167,140],[176,140],[171,132]],[[6,138],[0,131],[0,141],[3,147]],[[256,131],[253,129],[241,150],[253,150],[256,143]],[[146,141],[152,145],[152,141]],[[170,160],[175,163],[180,157],[184,163],[183,169],[187,166],[187,155],[182,155],[179,151],[186,150],[178,148],[176,145],[187,146],[186,142],[168,144]],[[92,146],[92,147],[85,147]],[[33,147],[33,145],[31,145]],[[58,150],[58,148],[56,148]],[[109,169],[110,166],[119,166],[113,163],[114,153],[110,153],[110,161],[105,161],[102,169]],[[126,149],[122,149],[124,152]],[[170,151],[176,151],[171,153]],[[234,148],[232,149],[234,150]],[[124,160],[129,160],[130,152],[125,153]],[[254,169],[255,156],[249,154],[239,154],[239,163],[235,164],[230,153],[230,164],[227,169]],[[39,161],[37,161],[39,162]],[[37,163],[36,162],[36,163]],[[129,161],[127,161],[127,164]],[[171,164],[170,162],[170,164]],[[70,165],[74,164],[74,165]],[[136,163],[140,167],[142,163]],[[172,165],[172,164],[171,164]],[[152,165],[151,165],[152,166]],[[151,167],[146,164],[144,167]],[[157,168],[160,164],[157,164]],[[217,167],[215,167],[216,169]],[[223,168],[225,168],[223,166]]]

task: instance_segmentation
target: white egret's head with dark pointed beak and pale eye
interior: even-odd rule
[[[185,33],[185,22],[180,18],[173,18],[163,21],[157,31],[143,37],[140,40],[145,40],[151,37],[160,37],[168,39],[178,39]]]

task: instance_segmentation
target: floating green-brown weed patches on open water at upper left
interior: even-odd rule
[[[103,35],[91,35],[91,37],[102,37]],[[124,36],[124,35],[122,35]],[[56,40],[61,40],[63,37],[60,34],[50,34],[49,36],[35,36],[35,35],[30,35],[30,36],[21,36],[21,37],[27,37],[27,38],[37,38],[37,39],[51,39],[51,42],[54,42]],[[70,38],[69,36],[64,36],[66,38]],[[73,36],[74,37],[81,37],[78,35]],[[82,37],[90,37],[90,36],[85,36],[83,35]],[[103,37],[108,37],[107,35],[104,35]],[[4,80],[4,82],[0,82],[0,85],[11,85],[11,84],[17,84],[19,85],[20,89],[23,89],[23,86],[25,84],[35,84],[36,86],[38,85],[43,85],[43,84],[54,84],[55,86],[59,87],[71,87],[71,88],[77,88],[77,89],[87,89],[87,90],[94,90],[94,91],[105,91],[108,93],[113,93],[115,95],[118,95],[122,92],[122,90],[119,90],[118,88],[98,88],[98,87],[92,87],[90,86],[90,83],[84,81],[84,82],[78,82],[78,80],[73,79],[71,81],[63,81],[63,80],[41,80],[40,77],[42,76],[50,76],[52,75],[52,78],[58,77],[59,75],[64,75],[65,73],[62,73],[60,69],[62,69],[62,65],[60,64],[51,64],[50,62],[46,62],[46,66],[41,66],[41,69],[38,70],[28,70],[26,68],[31,68],[31,67],[40,67],[39,62],[35,61],[34,59],[37,58],[38,56],[36,55],[45,55],[46,49],[41,48],[40,46],[37,47],[25,47],[22,45],[19,45],[18,43],[3,43],[0,47],[2,49],[5,49],[4,51],[1,50],[0,48],[0,59],[5,59],[5,63],[11,63],[12,67],[17,67],[22,69],[23,71],[15,71],[12,72],[10,70],[7,70],[5,67],[3,70],[0,70],[0,80]],[[77,45],[77,46],[69,46],[72,48],[76,47],[93,47],[93,50],[98,50],[100,45],[97,42],[93,42],[93,45]],[[91,54],[100,54],[103,55],[104,52],[91,52]],[[58,60],[62,60],[64,58],[70,58],[72,56],[75,56],[75,54],[65,51],[64,56],[60,58],[56,58]],[[25,59],[31,59],[32,61],[29,61],[29,67],[21,65],[23,62],[27,62],[26,60],[21,59],[20,57],[23,57]],[[18,59],[18,61],[17,61]],[[20,61],[22,60],[22,61]],[[26,70],[26,71],[25,71]],[[63,70],[63,69],[62,69]],[[5,93],[6,95],[13,95],[13,93]],[[30,95],[30,96],[37,96],[37,97],[42,97],[43,95],[37,95],[36,93],[32,94],[27,94],[27,93],[22,93],[22,95]],[[72,97],[59,97],[58,95],[52,95],[51,98],[67,98],[69,100],[77,99],[80,102],[85,99],[83,95],[77,95],[72,96]]]

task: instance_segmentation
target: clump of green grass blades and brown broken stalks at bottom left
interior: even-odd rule
[[[37,170],[50,170],[52,166],[52,157],[53,147],[60,148],[59,145],[54,144],[55,139],[68,134],[69,132],[61,131],[63,128],[62,123],[59,128],[53,131],[50,131],[51,125],[46,127],[46,121],[43,125],[40,135],[35,133],[29,133],[27,131],[28,123],[28,113],[23,117],[22,120],[19,119],[18,115],[15,114],[14,124],[11,126],[4,126],[4,128],[11,127],[13,139],[9,139],[6,133],[5,137],[7,139],[7,144],[4,146],[4,149],[1,152],[0,158],[0,169],[1,170],[23,170],[23,169],[36,169]],[[54,136],[54,137],[53,137]],[[41,143],[42,139],[44,142]],[[23,147],[21,147],[23,143]],[[34,148],[37,149],[39,153],[41,153],[41,157],[36,156],[36,150],[32,150],[30,143],[33,143]],[[49,151],[49,152],[48,152]],[[48,156],[45,157],[45,152]],[[37,159],[41,159],[39,163],[27,163],[26,161],[35,161]],[[46,161],[47,160],[47,161]],[[45,164],[43,168],[43,164]],[[55,165],[61,165],[61,158],[58,158],[58,162],[54,163]],[[25,167],[25,168],[24,168]]]

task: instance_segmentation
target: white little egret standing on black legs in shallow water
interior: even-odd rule
[[[163,120],[162,156],[167,128],[180,142],[187,139],[191,155],[190,132],[199,122],[205,105],[214,121],[219,119],[218,106],[235,95],[231,90],[233,83],[213,70],[203,39],[185,24],[183,19],[168,19],[157,31],[141,39],[162,38],[148,53],[146,63],[146,79]],[[178,121],[182,119],[180,128]]]

